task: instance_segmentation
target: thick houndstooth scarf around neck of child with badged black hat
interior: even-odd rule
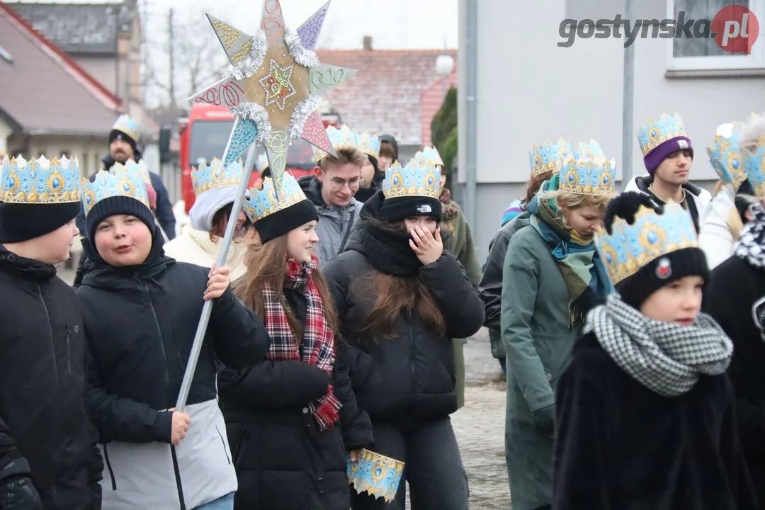
[[[722,374],[733,355],[733,343],[705,313],[691,326],[666,323],[649,319],[617,293],[588,313],[590,330],[621,369],[664,397],[682,395],[701,375]]]

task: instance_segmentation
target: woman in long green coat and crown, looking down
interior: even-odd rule
[[[555,382],[588,310],[611,290],[593,236],[614,197],[614,161],[591,148],[542,184],[529,225],[507,246],[500,326],[513,510],[550,508]]]

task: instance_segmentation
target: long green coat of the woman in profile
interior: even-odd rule
[[[507,245],[500,328],[507,353],[505,453],[513,510],[533,510],[552,501],[553,439],[532,413],[555,404],[555,383],[580,328],[568,326],[565,281],[530,225]]]

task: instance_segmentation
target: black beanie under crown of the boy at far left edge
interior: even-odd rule
[[[0,244],[44,236],[77,217],[80,202],[0,203]]]

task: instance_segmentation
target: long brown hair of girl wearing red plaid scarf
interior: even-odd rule
[[[287,315],[292,333],[298,338],[298,343],[303,338],[303,328],[292,313],[291,307],[286,302],[284,295],[285,278],[287,274],[287,235],[278,236],[269,242],[250,242],[246,254],[247,272],[242,278],[233,284],[236,297],[254,311],[258,317],[265,321],[265,304],[263,303],[263,288],[268,284],[276,293],[277,299],[282,303]],[[332,295],[329,285],[321,271],[314,271],[311,277],[321,295],[321,304],[324,306],[324,320],[332,328],[337,337],[340,323],[337,320],[337,311],[332,304]]]

